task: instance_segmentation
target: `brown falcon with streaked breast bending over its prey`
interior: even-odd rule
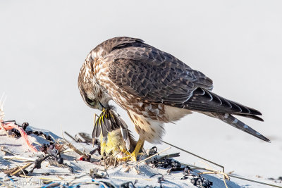
[[[145,140],[158,143],[164,123],[173,123],[192,112],[218,118],[233,127],[269,142],[233,115],[263,121],[262,115],[214,94],[213,82],[178,58],[146,44],[142,39],[115,37],[90,51],[80,69],[78,87],[87,106],[104,110],[113,100],[129,115],[139,134],[133,156]],[[96,136],[118,126],[98,127]]]

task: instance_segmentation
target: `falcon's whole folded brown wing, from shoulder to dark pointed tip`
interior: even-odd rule
[[[262,120],[255,116],[262,115],[259,111],[212,93],[212,80],[200,71],[140,39],[130,39],[105,58],[109,78],[125,92],[152,103]]]

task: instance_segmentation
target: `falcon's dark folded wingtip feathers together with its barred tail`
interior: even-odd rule
[[[224,99],[222,96],[214,94],[207,89],[197,88],[188,101],[185,102],[184,108],[192,111],[198,111],[214,118],[219,118],[223,122],[232,125],[233,127],[243,130],[253,136],[262,139],[266,142],[270,142],[269,139],[264,137],[259,132],[253,130],[248,125],[245,125],[242,121],[235,118],[233,115],[240,115],[245,118],[252,118],[255,120],[263,121],[257,115],[262,115],[254,108],[238,104],[235,101]]]

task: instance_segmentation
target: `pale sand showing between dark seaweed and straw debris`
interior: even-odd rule
[[[34,127],[28,127],[31,130],[39,130]],[[51,134],[54,138],[59,138],[56,134],[53,134],[52,132],[49,132],[48,130],[41,130],[45,134]],[[28,136],[30,138],[30,141],[32,142],[39,142],[42,143],[48,143],[46,140],[42,139],[41,137],[37,137],[34,134],[30,134]],[[68,137],[65,136],[67,139]],[[71,141],[71,139],[70,139]],[[72,142],[72,144],[80,149],[80,151],[85,151],[86,153],[91,151],[93,149],[92,145],[84,144],[84,143],[75,143]],[[36,144],[35,144],[36,145]],[[27,146],[25,145],[25,142],[22,137],[19,139],[8,137],[4,132],[0,130],[0,146],[5,147],[6,149],[12,151],[13,153],[18,154],[19,156],[25,156],[30,158],[37,158],[39,154],[42,154],[42,152],[39,153],[32,153],[29,151]],[[159,151],[162,149],[165,149],[166,146],[159,146]],[[38,146],[37,146],[38,148]],[[174,153],[174,151],[178,152],[177,149],[170,149],[166,153],[162,154],[168,154],[168,153]],[[97,154],[99,155],[99,154]],[[7,168],[13,168],[16,165],[23,165],[20,161],[11,161],[4,159],[4,152],[0,151],[0,169],[4,170]],[[93,187],[94,184],[84,184],[85,182],[91,182],[91,178],[87,173],[90,173],[90,169],[97,168],[98,173],[104,173],[104,166],[97,165],[94,163],[90,163],[87,161],[75,161],[75,158],[78,158],[78,154],[71,151],[69,153],[62,154],[62,157],[64,158],[64,163],[67,163],[68,165],[71,165],[74,169],[74,173],[70,173],[67,168],[58,168],[51,165],[48,165],[47,161],[44,161],[42,163],[41,169],[35,169],[33,174],[30,175],[30,177],[27,177],[26,179],[23,177],[13,177],[13,182],[10,180],[9,177],[6,176],[3,172],[0,172],[0,181],[6,182],[8,184],[11,184],[16,187],[40,187],[44,186],[42,184],[42,180],[40,180],[40,177],[47,177],[47,178],[54,178],[59,180],[59,178],[62,178],[63,180],[60,180],[59,182],[71,182],[73,178],[79,177],[77,180],[73,180],[74,182],[80,183],[80,186],[82,187]],[[247,151],[246,151],[246,158],[247,158]],[[180,158],[175,158],[176,160],[180,160]],[[277,160],[277,158],[276,158]],[[187,158],[186,158],[187,161]],[[191,164],[195,163],[195,161],[190,161]],[[134,163],[131,163],[134,164]],[[48,166],[47,166],[48,165]],[[204,163],[202,164],[202,167],[204,168],[210,168],[211,164]],[[31,168],[31,167],[30,167]],[[30,168],[27,168],[29,170]],[[247,167],[246,167],[247,168]],[[152,185],[159,187],[160,184],[157,182],[157,178],[161,175],[164,175],[164,182],[162,184],[164,187],[195,187],[190,182],[190,178],[187,180],[180,180],[181,177],[183,177],[183,172],[172,172],[167,173],[168,169],[164,168],[153,168],[152,165],[147,165],[145,163],[141,163],[137,166],[137,169],[140,170],[140,174],[137,174],[136,170],[134,168],[130,168],[128,172],[125,172],[125,168],[123,165],[118,165],[116,168],[109,168],[107,170],[107,173],[109,174],[109,179],[95,179],[95,181],[104,181],[104,182],[111,182],[111,184],[114,184],[114,186],[118,187],[120,184],[128,181],[135,182],[137,180],[137,183],[135,184],[136,187],[145,187],[146,185]],[[41,175],[41,173],[56,173],[56,175]],[[84,176],[82,176],[84,175]],[[154,177],[151,177],[152,175],[155,175]],[[221,176],[217,175],[203,175],[208,180],[213,182],[212,187],[225,187],[223,183],[223,178]],[[263,177],[245,177],[250,178],[252,180],[267,182],[270,184],[275,184],[274,180],[266,180]],[[279,182],[279,181],[278,181]],[[228,187],[266,187],[266,185],[263,184],[257,184],[255,182],[247,182],[245,180],[239,180],[236,178],[231,177],[230,181],[227,181]],[[282,183],[280,181],[279,184],[282,186]],[[98,186],[97,186],[98,187]]]

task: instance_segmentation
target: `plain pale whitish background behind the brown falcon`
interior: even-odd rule
[[[2,0],[5,119],[59,136],[61,127],[71,134],[92,133],[93,113],[99,111],[80,97],[80,66],[104,40],[138,37],[212,78],[216,94],[262,111],[264,123],[240,119],[271,144],[197,113],[166,125],[164,140],[239,175],[282,176],[281,6],[281,1]],[[125,112],[118,112],[134,132]],[[185,153],[180,160],[206,166]]]

